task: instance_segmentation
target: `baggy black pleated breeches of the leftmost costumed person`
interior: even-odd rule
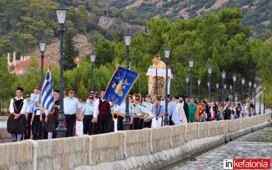
[[[22,114],[18,119],[14,119],[14,115],[11,114],[10,117],[8,117],[7,121],[7,130],[8,133],[11,134],[22,134],[24,133],[26,126],[27,126],[27,120],[24,114]]]

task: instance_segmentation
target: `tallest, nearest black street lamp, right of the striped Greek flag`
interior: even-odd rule
[[[59,125],[56,129],[57,131],[57,138],[65,137],[65,132],[67,129],[65,128],[63,122],[65,120],[64,117],[64,110],[63,110],[63,34],[64,34],[64,25],[66,22],[66,18],[68,15],[68,8],[64,6],[63,1],[60,2],[60,5],[55,8],[58,22],[60,25],[60,111],[59,111]]]

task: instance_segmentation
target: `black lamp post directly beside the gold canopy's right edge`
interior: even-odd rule
[[[171,49],[168,45],[164,49],[165,63],[166,63],[166,84],[165,84],[165,109],[164,109],[164,125],[169,125],[169,116],[168,116],[168,63],[169,57],[171,54]]]

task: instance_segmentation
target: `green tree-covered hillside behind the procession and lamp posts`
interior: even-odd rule
[[[207,67],[211,65],[212,98],[216,96],[217,82],[220,83],[219,94],[222,92],[221,72],[224,69],[227,72],[225,79],[227,85],[233,85],[232,75],[237,75],[235,89],[239,98],[242,78],[246,80],[244,98],[249,94],[248,81],[254,83],[262,79],[263,85],[267,85],[266,102],[272,102],[270,94],[272,88],[269,87],[272,78],[272,45],[269,38],[272,37],[272,32],[267,28],[270,27],[268,20],[271,18],[266,18],[271,15],[267,12],[271,9],[269,6],[271,2],[250,1],[253,3],[251,6],[248,3],[254,10],[262,11],[263,6],[267,7],[258,18],[250,17],[256,22],[255,25],[243,24],[246,22],[243,10],[249,9],[249,6],[241,8],[247,5],[242,3],[237,5],[238,1],[222,2],[223,5],[218,5],[219,1],[196,0],[108,0],[105,3],[96,0],[64,0],[64,4],[70,9],[64,33],[64,90],[78,88],[77,67],[73,64],[76,55],[82,58],[79,66],[80,94],[83,97],[88,95],[91,89],[92,68],[86,54],[91,50],[97,54],[94,89],[99,91],[106,88],[116,62],[121,66],[126,63],[126,48],[122,34],[129,28],[131,33],[135,34],[129,59],[133,70],[141,74],[131,91],[143,94],[148,92],[147,69],[152,65],[151,60],[155,56],[161,56],[161,60],[165,61],[162,57],[163,49],[168,44],[172,49],[169,67],[176,74],[173,79],[173,95],[186,94],[185,77],[189,75],[188,59],[192,56],[195,59],[193,96],[198,92],[198,79],[202,80],[201,97],[207,96],[206,82],[209,80]],[[259,6],[259,3],[263,2],[267,3]],[[183,3],[188,9],[184,10]],[[213,9],[215,4],[219,8]],[[37,42],[42,36],[48,41],[45,56],[49,57],[51,62],[58,62],[59,25],[54,11],[58,5],[59,3],[53,0],[0,1],[0,79],[6,80],[0,83],[0,89],[3,91],[0,93],[2,104],[14,96],[16,87],[23,86],[29,93],[33,91],[34,85],[40,84],[40,68],[35,58],[40,56]],[[228,7],[227,5],[231,8],[224,8]],[[190,12],[189,9],[195,12]],[[211,11],[205,11],[206,9]],[[179,15],[180,11],[184,11],[186,16],[188,14],[188,18]],[[257,25],[261,24],[259,21],[265,21],[267,27],[262,27],[263,32],[253,36],[252,28],[256,27],[257,30]],[[17,57],[32,56],[31,67],[24,75],[11,74],[7,68],[6,55],[13,52],[17,53]],[[54,89],[59,88],[59,75],[59,66],[52,65]],[[230,91],[227,90],[227,93]]]

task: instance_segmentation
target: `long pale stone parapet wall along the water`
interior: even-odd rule
[[[2,143],[0,170],[169,169],[267,125],[271,125],[271,113],[238,120]],[[10,139],[4,131],[0,129],[2,141]]]

